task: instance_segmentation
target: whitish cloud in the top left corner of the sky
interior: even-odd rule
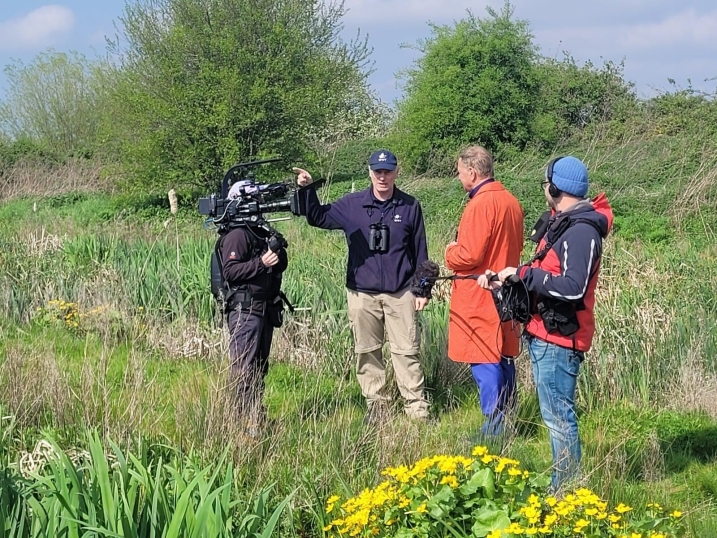
[[[75,14],[61,5],[42,6],[22,17],[0,21],[0,50],[39,49],[55,44],[75,24]]]

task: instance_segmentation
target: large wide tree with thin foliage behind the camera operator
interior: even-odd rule
[[[215,186],[240,159],[307,158],[368,95],[365,40],[324,0],[138,0],[125,8],[107,139],[142,189]],[[363,106],[363,105],[362,105]]]

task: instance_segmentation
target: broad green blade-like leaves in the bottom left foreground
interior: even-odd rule
[[[291,499],[275,505],[268,486],[247,502],[226,456],[203,468],[177,454],[105,452],[96,436],[74,460],[48,446],[38,471],[0,473],[0,535],[269,538]]]

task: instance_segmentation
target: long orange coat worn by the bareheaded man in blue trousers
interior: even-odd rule
[[[488,183],[468,202],[457,244],[446,249],[446,267],[457,275],[517,267],[523,249],[523,209],[499,182]],[[454,280],[448,318],[448,357],[456,362],[496,363],[515,357],[519,332],[500,323],[493,296],[472,279]]]

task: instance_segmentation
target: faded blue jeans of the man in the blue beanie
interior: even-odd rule
[[[575,413],[575,388],[582,351],[574,351],[528,336],[528,351],[538,389],[540,414],[553,451],[553,490],[576,475],[582,452]]]

